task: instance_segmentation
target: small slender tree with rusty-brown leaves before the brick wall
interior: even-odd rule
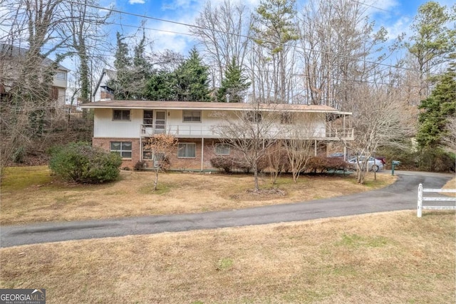
[[[162,169],[167,169],[167,155],[174,152],[177,146],[177,139],[169,134],[157,134],[147,139],[144,149],[152,153],[153,169],[155,179],[152,191],[157,190],[158,173]]]

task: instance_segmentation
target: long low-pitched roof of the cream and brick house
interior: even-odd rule
[[[203,103],[190,101],[154,101],[154,100],[108,100],[86,103],[81,108],[88,109],[167,109],[167,110],[254,110],[252,103]],[[297,105],[288,103],[259,104],[263,111],[288,112],[325,112],[351,115],[328,105]]]

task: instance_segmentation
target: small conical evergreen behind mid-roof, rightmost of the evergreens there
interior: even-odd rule
[[[224,102],[227,100],[227,94],[229,94],[230,103],[240,103],[249,86],[250,82],[247,81],[246,76],[242,75],[242,68],[237,63],[237,59],[233,57],[225,71],[222,85],[217,93],[217,100]]]

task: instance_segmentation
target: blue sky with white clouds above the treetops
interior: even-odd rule
[[[115,9],[133,14],[150,16],[167,21],[178,23],[192,23],[199,15],[199,11],[207,0],[117,0],[115,2],[105,1],[105,6],[113,4]],[[217,6],[222,0],[211,1],[213,6]],[[233,0],[235,1],[235,0]],[[298,0],[298,2],[301,0]],[[358,1],[358,0],[352,0]],[[359,0],[370,6],[366,6],[371,20],[377,26],[385,26],[390,33],[390,37],[397,37],[400,33],[408,33],[410,22],[418,11],[418,6],[427,2],[425,0]],[[441,5],[451,6],[454,0],[437,1]],[[252,11],[259,4],[259,0],[242,0]],[[103,5],[103,4],[102,4]],[[375,6],[372,7],[372,6]],[[378,9],[376,9],[378,8]],[[169,48],[183,54],[187,54],[188,49],[195,44],[191,36],[179,33],[188,33],[188,28],[176,23],[143,19],[136,16],[116,14],[116,23],[124,26],[117,27],[125,36],[132,36],[135,29],[130,26],[139,26],[145,20],[146,28],[154,28],[147,31],[148,38],[154,41],[155,50]],[[175,33],[172,33],[175,32]]]

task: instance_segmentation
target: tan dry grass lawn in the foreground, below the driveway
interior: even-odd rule
[[[19,246],[0,249],[0,288],[49,304],[455,303],[455,237],[454,212],[398,211]]]

